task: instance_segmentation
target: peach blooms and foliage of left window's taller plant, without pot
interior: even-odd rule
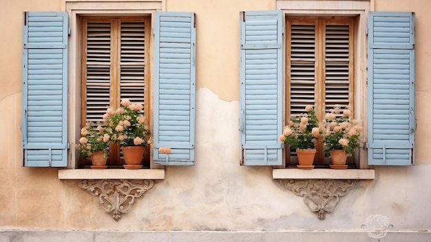
[[[143,108],[140,103],[123,99],[120,108],[108,108],[103,114],[107,129],[112,132],[112,140],[120,141],[121,147],[147,146],[151,143],[151,132],[145,123]]]

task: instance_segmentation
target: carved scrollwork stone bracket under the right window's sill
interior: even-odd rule
[[[302,196],[304,203],[317,218],[325,219],[326,213],[333,212],[341,196],[346,195],[359,183],[358,180],[333,179],[280,179],[283,188],[297,196]]]

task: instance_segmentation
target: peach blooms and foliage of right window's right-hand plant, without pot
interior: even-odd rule
[[[325,115],[323,125],[326,156],[333,150],[345,150],[347,154],[351,154],[359,148],[362,131],[359,121],[351,119],[352,111],[348,108],[343,110],[341,117],[337,117],[337,114],[341,114],[339,105],[335,105],[335,108]]]

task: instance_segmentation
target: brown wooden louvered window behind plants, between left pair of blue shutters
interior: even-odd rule
[[[143,103],[149,117],[149,17],[83,17],[81,127],[103,121],[107,107],[121,99]],[[118,144],[109,148],[109,165],[122,165]],[[149,167],[149,148],[144,155]],[[81,165],[90,165],[81,159]]]

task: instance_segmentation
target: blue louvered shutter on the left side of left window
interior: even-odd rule
[[[23,159],[67,165],[67,12],[24,12]]]

